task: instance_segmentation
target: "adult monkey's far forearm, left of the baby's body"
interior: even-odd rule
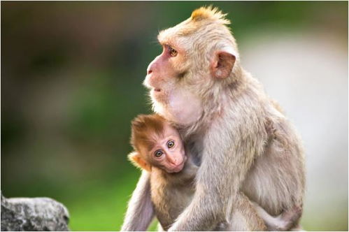
[[[150,173],[142,171],[129,201],[121,231],[146,231],[154,215],[150,198]]]

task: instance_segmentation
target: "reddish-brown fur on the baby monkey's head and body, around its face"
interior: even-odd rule
[[[169,229],[178,215],[190,204],[194,195],[194,177],[198,169],[191,160],[187,160],[179,173],[169,173],[159,166],[159,160],[153,159],[150,162],[152,158],[150,147],[158,143],[157,139],[166,139],[166,123],[163,117],[156,114],[138,115],[131,122],[131,145],[134,147],[134,152],[128,156],[134,166],[150,173],[151,202],[154,205],[155,215],[165,230]],[[178,133],[177,135],[179,136]],[[177,143],[175,151],[180,151],[181,147],[178,146],[183,146],[183,143],[180,138],[175,141]]]

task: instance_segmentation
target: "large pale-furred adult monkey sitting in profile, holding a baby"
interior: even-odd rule
[[[261,230],[250,201],[273,216],[303,205],[301,141],[241,67],[226,24],[217,8],[194,10],[159,33],[164,51],[148,66],[144,84],[155,112],[178,127],[200,164],[192,202],[170,231],[206,231],[220,223],[230,230]],[[149,175],[142,173],[122,230],[144,231],[153,214]]]

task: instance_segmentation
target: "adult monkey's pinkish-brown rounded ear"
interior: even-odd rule
[[[235,64],[236,57],[232,52],[217,51],[211,61],[211,75],[214,78],[227,78]]]

